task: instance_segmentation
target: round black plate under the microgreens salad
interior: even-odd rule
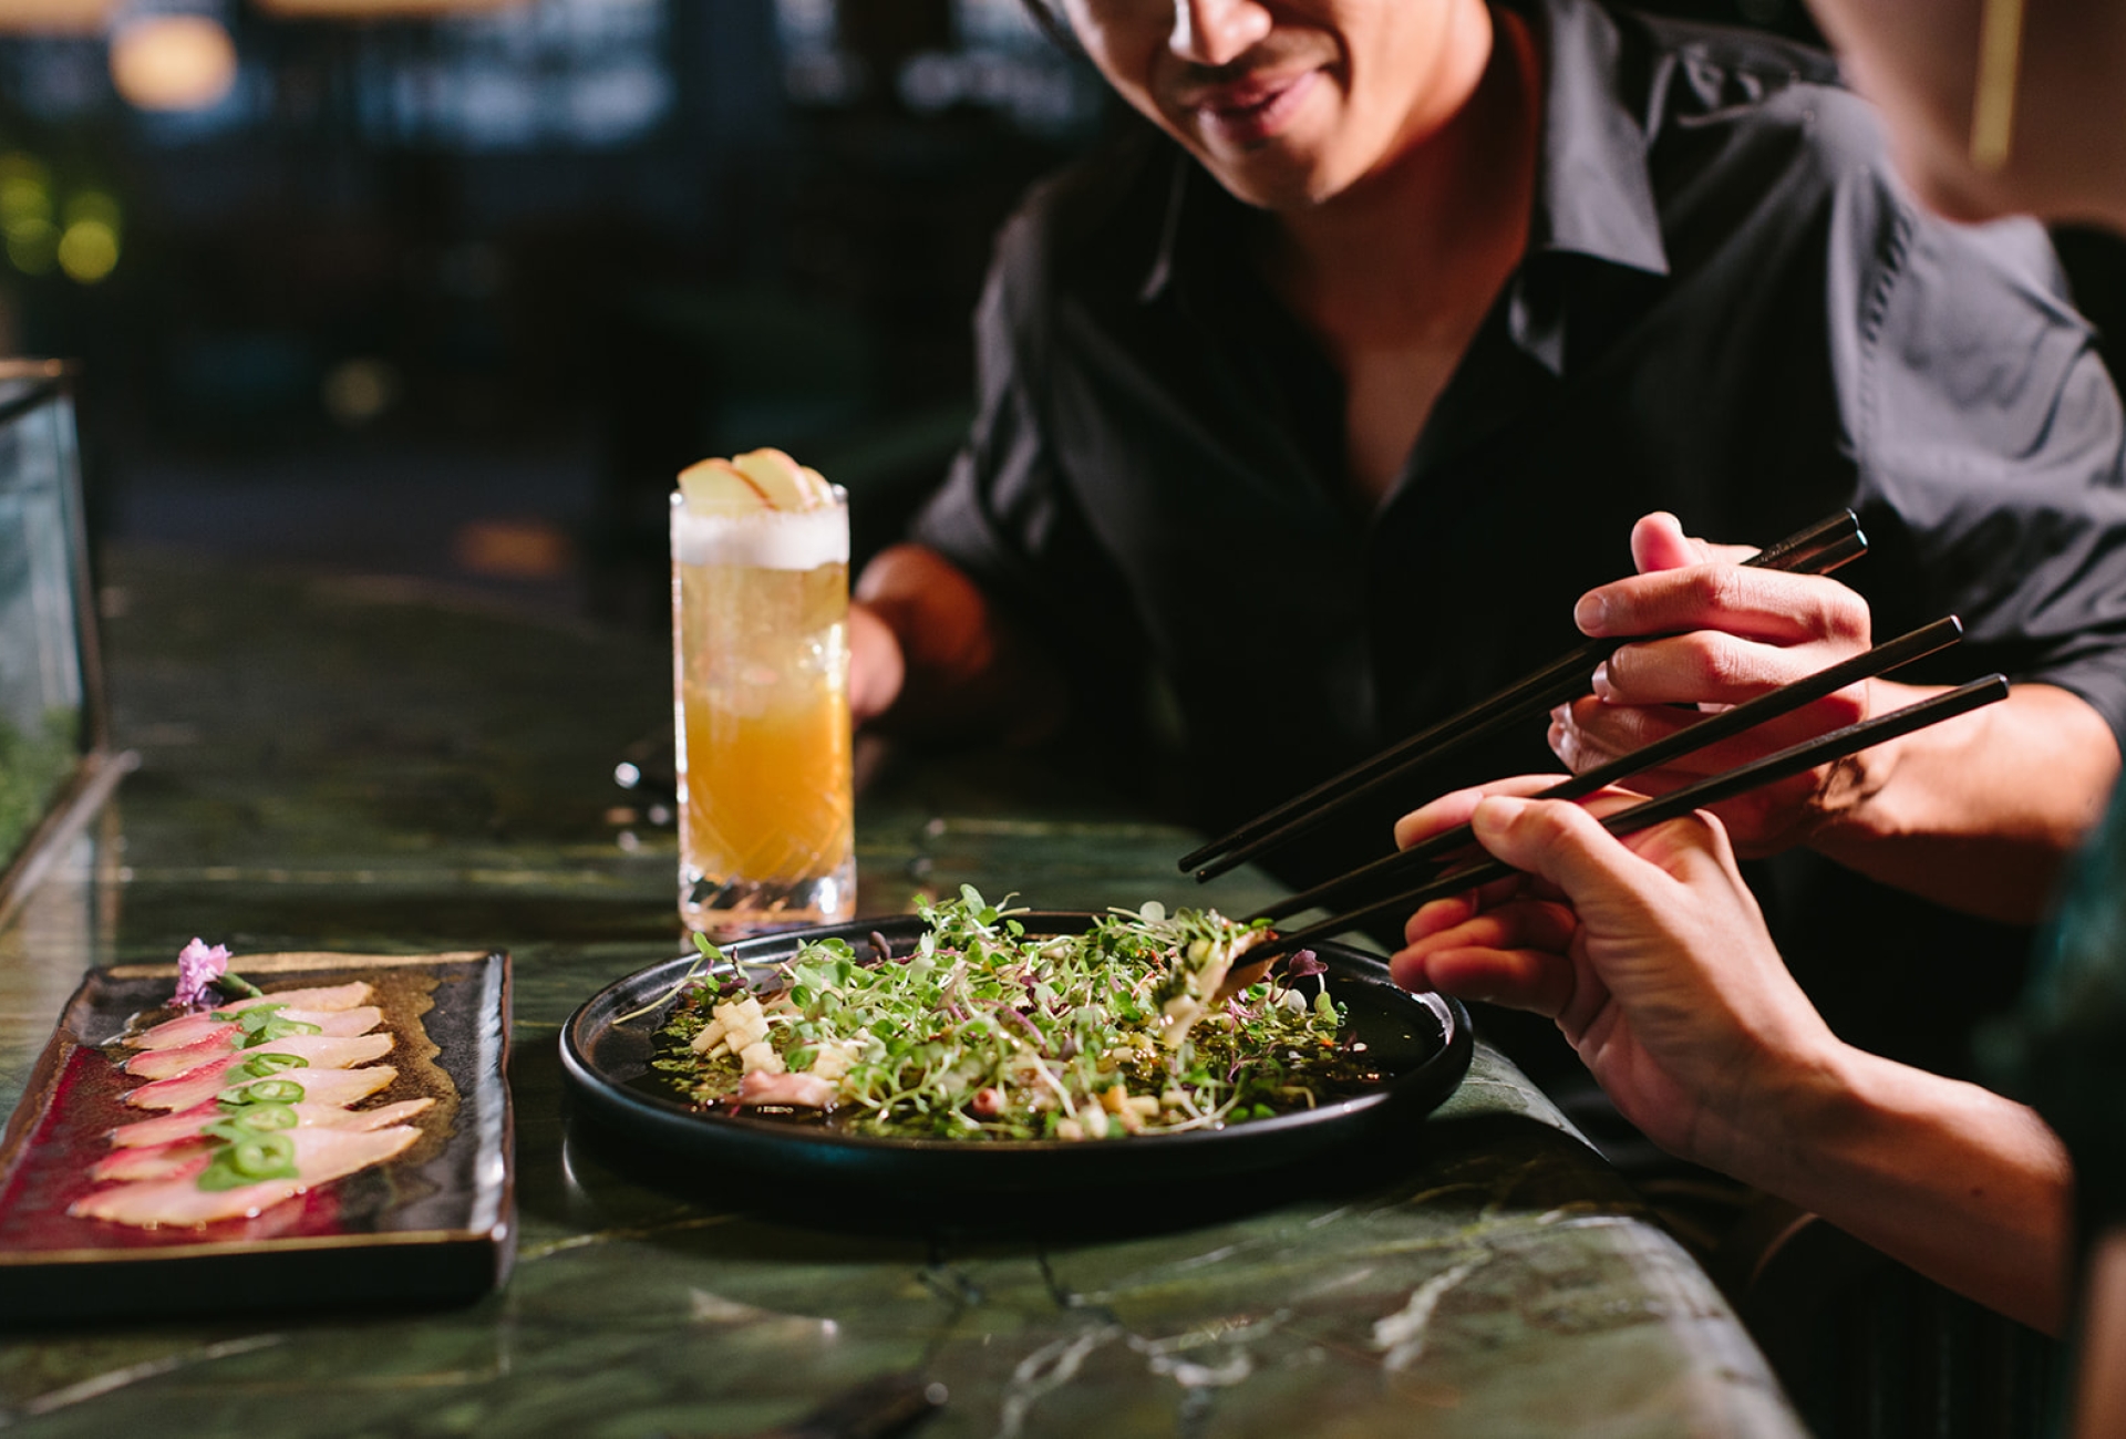
[[[1027,933],[1080,933],[1099,916],[1031,912]],[[840,937],[859,961],[874,954],[872,933],[908,952],[923,920],[895,916],[823,929],[795,929],[723,946],[748,976],[789,959],[812,939]],[[1008,1199],[1054,1197],[1059,1190],[1201,1182],[1288,1165],[1316,1165],[1382,1135],[1410,1139],[1420,1118],[1454,1093],[1469,1071],[1469,1012],[1439,995],[1412,995],[1388,982],[1386,965],[1337,944],[1316,948],[1329,967],[1322,980],[1346,1005],[1348,1022],[1388,1080],[1316,1110],[1280,1114],[1216,1131],[1137,1135],[1127,1139],[952,1141],[848,1135],[725,1110],[697,1110],[657,1093],[648,1080],[651,1044],[665,1005],[621,1020],[657,1001],[687,974],[687,956],[668,959],[608,984],[561,1031],[561,1065],[576,1110],[623,1146],[642,1146],[680,1178],[731,1192],[740,1171],[748,1182],[895,1192],[901,1197]]]

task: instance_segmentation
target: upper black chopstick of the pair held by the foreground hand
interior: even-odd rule
[[[1616,784],[1618,780],[1629,780],[1635,774],[1643,774],[1654,765],[1665,765],[1671,759],[1690,755],[1692,750],[1703,750],[1707,744],[1718,744],[1731,735],[1739,735],[1745,729],[1762,725],[1765,721],[1790,714],[1801,706],[1816,704],[1824,695],[1835,695],[1847,684],[1858,684],[1860,680],[1871,680],[1877,674],[1888,674],[1899,665],[1909,665],[1916,659],[1943,650],[1956,644],[1964,633],[1962,621],[1954,614],[1947,619],[1937,619],[1933,625],[1922,625],[1909,633],[1899,636],[1877,644],[1871,650],[1854,655],[1852,659],[1841,659],[1835,665],[1818,670],[1811,676],[1782,684],[1779,689],[1758,695],[1756,699],[1745,699],[1718,714],[1707,714],[1688,729],[1677,729],[1673,735],[1643,744],[1629,755],[1620,755],[1605,765],[1597,765],[1586,774],[1577,774],[1560,784],[1552,784],[1537,799],[1577,799],[1580,795],[1592,795],[1605,784]],[[1342,895],[1352,888],[1363,888],[1367,884],[1378,884],[1382,880],[1401,880],[1416,874],[1422,865],[1439,863],[1448,854],[1469,846],[1471,835],[1467,825],[1456,825],[1446,829],[1431,840],[1412,844],[1407,850],[1376,859],[1369,865],[1361,865],[1350,874],[1339,874],[1333,880],[1322,880],[1314,888],[1288,895],[1273,905],[1254,912],[1250,918],[1256,920],[1282,920],[1286,916],[1299,914],[1301,910],[1312,910],[1318,903]]]

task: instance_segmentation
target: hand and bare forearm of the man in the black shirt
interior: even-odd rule
[[[1635,578],[1582,595],[1590,636],[1626,644],[1594,695],[1552,714],[1550,748],[1575,772],[1869,646],[1867,602],[1837,580],[1745,570],[1750,551],[1684,536],[1673,514],[1631,531]],[[1939,689],[1865,680],[1745,735],[1633,778],[1663,795]],[[1677,708],[1682,706],[1682,708]],[[2079,695],[2015,684],[1994,706],[1860,750],[1716,810],[1745,857],[1807,844],[1952,910],[2030,922],[2060,863],[2103,814],[2120,772],[2111,725]]]

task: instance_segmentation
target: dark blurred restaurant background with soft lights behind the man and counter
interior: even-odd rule
[[[702,455],[893,538],[993,230],[1116,123],[1020,0],[0,0],[0,355],[83,361],[106,542],[661,629]]]

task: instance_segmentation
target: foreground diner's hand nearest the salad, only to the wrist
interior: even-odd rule
[[[1580,806],[1522,797],[1548,784],[1461,791],[1397,825],[1407,848],[1467,820],[1524,871],[1418,910],[1393,961],[1397,984],[1556,1018],[1654,1144],[1762,1173],[1843,1046],[1788,976],[1718,820],[1616,840]],[[1612,789],[1590,808],[1633,799]]]

